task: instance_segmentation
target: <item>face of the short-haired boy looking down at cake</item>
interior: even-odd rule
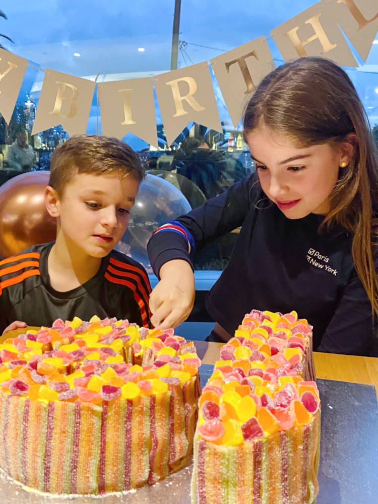
[[[89,256],[105,257],[128,227],[138,190],[131,175],[75,175],[56,202],[61,231]]]

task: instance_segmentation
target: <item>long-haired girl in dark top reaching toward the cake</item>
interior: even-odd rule
[[[247,104],[244,139],[256,175],[151,238],[151,265],[160,279],[150,298],[152,323],[165,329],[188,317],[194,250],[241,226],[206,300],[216,321],[210,341],[227,341],[252,308],[295,309],[313,325],[314,350],[372,354],[378,171],[347,74],[318,57],[274,70]]]

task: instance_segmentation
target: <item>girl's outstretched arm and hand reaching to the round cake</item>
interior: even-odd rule
[[[187,319],[196,293],[191,258],[195,250],[242,225],[259,191],[255,182],[255,176],[244,178],[152,236],[148,254],[160,280],[150,296],[155,327],[168,329]]]

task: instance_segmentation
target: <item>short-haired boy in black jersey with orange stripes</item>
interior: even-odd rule
[[[55,149],[45,203],[56,240],[0,262],[0,334],[94,314],[150,327],[146,271],[113,250],[142,179],[139,157],[115,138],[77,135]]]

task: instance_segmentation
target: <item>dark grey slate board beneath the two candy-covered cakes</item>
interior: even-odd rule
[[[205,386],[213,366],[200,368]],[[320,492],[317,504],[376,504],[378,403],[375,388],[318,380],[322,401]],[[0,473],[1,504],[190,504],[192,465],[153,486],[105,496],[44,495]]]

